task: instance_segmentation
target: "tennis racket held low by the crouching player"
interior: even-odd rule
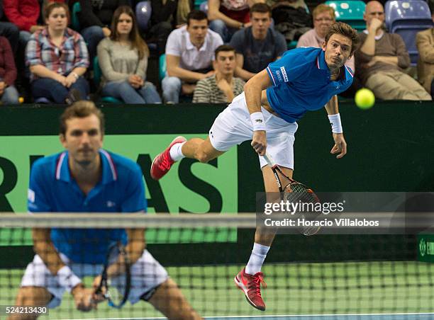
[[[121,274],[116,274],[110,278],[107,269],[113,263],[118,264]],[[113,244],[109,248],[106,264],[101,273],[101,282],[96,287],[95,295],[107,299],[109,306],[119,309],[126,303],[131,288],[130,260],[125,247],[121,243]]]

